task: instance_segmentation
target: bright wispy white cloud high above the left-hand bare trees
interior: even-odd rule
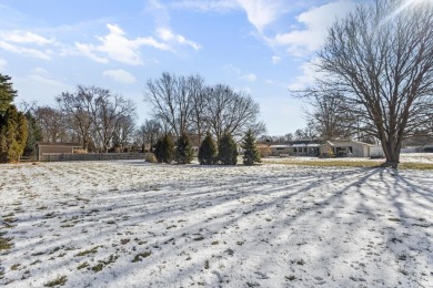
[[[142,65],[140,48],[143,45],[153,47],[159,50],[170,50],[165,43],[158,42],[152,37],[128,39],[125,32],[115,24],[107,24],[109,34],[98,37],[100,45],[82,44],[75,42],[75,48],[85,56],[101,63],[109,62],[109,59],[124,64]]]

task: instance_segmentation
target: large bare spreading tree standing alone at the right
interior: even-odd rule
[[[432,27],[432,1],[375,0],[336,22],[319,52],[321,84],[381,141],[386,166],[433,117]]]

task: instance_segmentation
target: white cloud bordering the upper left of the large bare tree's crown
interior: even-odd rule
[[[315,51],[323,44],[328,29],[334,21],[346,16],[354,7],[355,3],[351,0],[339,0],[312,8],[296,18],[304,29],[276,34],[270,43],[288,47],[293,55],[304,55],[305,52]]]

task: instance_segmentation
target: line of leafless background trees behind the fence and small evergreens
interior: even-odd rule
[[[17,95],[9,81],[2,76],[2,121]],[[240,142],[248,130],[254,135],[265,132],[258,121],[259,104],[250,95],[224,84],[207,85],[200,75],[162,73],[147,82],[143,97],[152,114],[140,126],[135,104],[103,88],[78,85],[74,92],[61,92],[51,106],[23,103],[17,112],[27,120],[24,155],[36,154],[37,142],[80,143],[87,152],[144,152],[153,151],[164,135],[178,141],[185,134],[200,146],[205,133],[216,142],[223,134]]]

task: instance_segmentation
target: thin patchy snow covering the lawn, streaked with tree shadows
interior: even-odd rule
[[[0,285],[433,287],[433,173],[0,166]]]

